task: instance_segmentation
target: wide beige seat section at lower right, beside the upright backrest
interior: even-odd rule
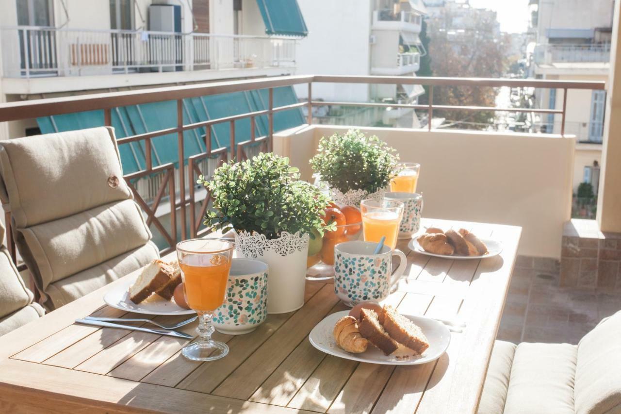
[[[569,344],[519,344],[505,414],[573,414],[576,353]]]

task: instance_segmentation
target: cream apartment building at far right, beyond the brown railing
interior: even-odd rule
[[[531,0],[531,26],[537,44],[531,75],[550,80],[607,80],[614,0]],[[579,10],[580,12],[576,12]],[[597,193],[605,118],[605,91],[570,91],[565,134],[576,144],[574,192],[582,182]],[[563,90],[537,90],[539,108],[561,109]],[[561,116],[538,120],[540,131],[560,133]]]

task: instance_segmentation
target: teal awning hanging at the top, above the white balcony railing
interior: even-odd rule
[[[268,35],[306,36],[304,17],[297,0],[256,0]]]

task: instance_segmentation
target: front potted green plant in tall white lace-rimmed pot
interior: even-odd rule
[[[323,226],[320,218],[328,197],[298,179],[288,158],[261,153],[221,165],[209,181],[198,180],[213,200],[206,226],[233,229],[237,254],[268,265],[268,313],[304,305],[309,234],[317,239],[334,227]]]

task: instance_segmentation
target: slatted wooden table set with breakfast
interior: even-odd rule
[[[401,313],[467,324],[438,361],[382,366],[314,349],[311,329],[346,309],[323,282],[307,283],[300,310],[269,315],[253,333],[216,333],[230,353],[202,364],[181,356],[184,339],[73,323],[86,315],[130,316],[102,300],[121,279],[0,338],[0,412],[474,413],[521,229],[424,220],[431,225],[468,228],[504,246],[498,257],[448,260],[410,252],[401,242],[408,265],[387,301]]]

